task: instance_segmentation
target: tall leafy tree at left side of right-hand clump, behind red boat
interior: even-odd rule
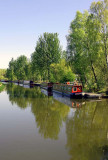
[[[82,83],[87,81],[86,74],[89,70],[88,57],[84,49],[87,17],[87,11],[84,14],[78,11],[75,19],[71,22],[69,35],[67,36],[67,61],[80,77]]]

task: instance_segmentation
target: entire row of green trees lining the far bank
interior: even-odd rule
[[[108,86],[108,0],[93,2],[89,11],[77,11],[62,51],[57,33],[44,33],[31,59],[9,62],[7,77],[65,82],[76,78],[88,89]]]

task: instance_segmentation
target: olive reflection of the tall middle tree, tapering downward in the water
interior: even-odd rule
[[[55,101],[52,97],[42,101],[37,99],[31,106],[39,133],[44,138],[58,139],[60,128],[66,119],[69,107]]]

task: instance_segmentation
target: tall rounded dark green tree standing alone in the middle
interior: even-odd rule
[[[40,74],[50,80],[50,65],[58,63],[61,56],[61,47],[57,33],[44,33],[37,41],[32,62]]]

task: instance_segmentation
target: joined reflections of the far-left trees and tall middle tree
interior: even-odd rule
[[[12,104],[20,108],[31,106],[39,133],[44,138],[58,139],[60,128],[69,113],[70,108],[41,93],[40,88],[23,88],[17,85],[7,85],[7,93]]]

